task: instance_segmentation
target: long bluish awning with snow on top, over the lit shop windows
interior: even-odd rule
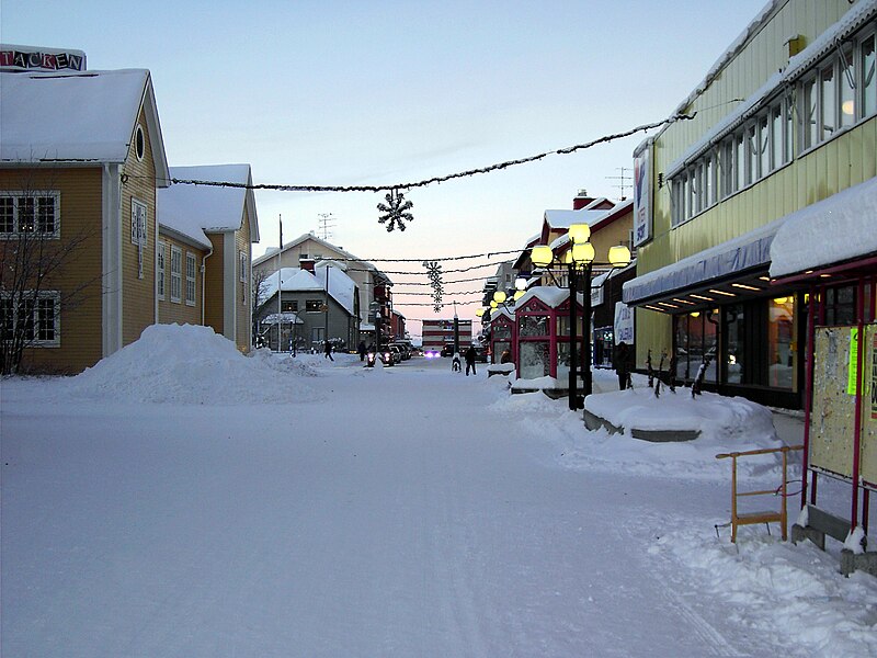
[[[771,243],[785,220],[781,217],[672,265],[631,279],[624,284],[624,303],[641,304],[709,281],[766,268],[771,262]]]

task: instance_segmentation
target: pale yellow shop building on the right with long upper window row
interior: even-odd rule
[[[877,175],[876,33],[875,0],[768,2],[637,148],[624,298],[639,368],[665,353],[680,379],[703,370],[706,388],[801,406],[806,293],[772,282],[771,243]],[[852,308],[836,295],[836,313]]]

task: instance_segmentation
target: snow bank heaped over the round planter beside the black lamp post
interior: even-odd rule
[[[607,390],[613,378],[612,373],[595,372],[594,390]],[[635,378],[634,383],[640,382]],[[589,396],[586,406],[616,426],[635,421],[636,428],[697,429],[701,435],[694,441],[652,443],[634,439],[629,430],[624,434],[611,434],[604,429],[588,431],[581,411],[570,411],[567,398],[553,400],[543,393],[503,396],[491,409],[516,419],[527,433],[553,442],[559,464],[576,470],[729,483],[730,461],[717,460],[717,454],[782,446],[771,411],[743,398],[705,393],[692,399],[691,389],[686,388],[677,388],[675,394],[664,389],[656,398],[651,388],[642,386]],[[797,460],[789,460],[790,480],[800,477],[796,463]],[[776,480],[778,485],[781,464],[778,454],[739,460],[738,477]]]

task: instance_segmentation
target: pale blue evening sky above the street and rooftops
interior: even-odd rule
[[[660,121],[765,3],[0,0],[0,39],[78,48],[91,69],[150,69],[172,166],[249,162],[257,183],[392,184]],[[411,190],[405,232],[377,223],[383,195],[258,192],[254,254],[277,243],[280,214],[289,240],[320,213],[334,216],[330,241],[366,259],[516,249],[580,188],[619,196],[612,177],[645,136]],[[391,275],[397,302],[429,302],[402,295],[429,292],[401,283],[425,283],[422,268],[377,264],[418,273]],[[472,317],[465,303],[477,295],[463,293],[480,287],[446,284],[445,300]]]

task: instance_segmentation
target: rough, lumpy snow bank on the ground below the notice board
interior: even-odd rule
[[[702,530],[674,530],[648,552],[673,572],[691,569],[699,595],[725,602],[730,621],[754,635],[778,635],[807,655],[877,656],[873,576],[844,578],[836,559],[809,542],[796,546],[751,526],[741,532],[731,544]]]

